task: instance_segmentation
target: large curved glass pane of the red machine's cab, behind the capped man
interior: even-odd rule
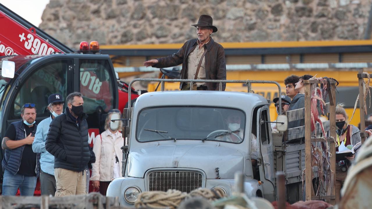
[[[33,103],[36,105],[37,117],[49,117],[48,97],[51,94],[61,94],[67,97],[67,70],[73,65],[71,60],[54,60],[45,63],[25,82],[20,84],[14,108],[10,109],[9,119],[18,119],[22,105]]]

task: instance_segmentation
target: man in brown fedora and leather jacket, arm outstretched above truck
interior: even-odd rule
[[[215,42],[211,34],[217,32],[213,26],[213,19],[209,15],[201,15],[196,27],[197,39],[188,40],[177,53],[173,55],[151,59],[144,62],[144,66],[167,68],[182,63],[181,79],[218,79],[226,80],[226,61],[224,48]],[[225,90],[222,84],[222,91]],[[192,86],[194,90],[219,90],[218,83],[197,82]],[[181,90],[190,90],[190,83],[180,82]]]

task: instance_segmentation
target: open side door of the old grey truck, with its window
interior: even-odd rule
[[[269,120],[269,110],[267,106],[260,108],[257,111],[257,143],[261,151],[260,179],[264,191],[265,199],[270,202],[275,200],[275,173],[274,173],[274,156],[271,139],[271,128],[269,123],[264,123]]]

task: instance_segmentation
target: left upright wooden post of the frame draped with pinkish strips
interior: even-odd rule
[[[308,80],[309,81],[309,80]],[[311,88],[310,84],[305,83],[305,124],[311,123],[310,101]],[[311,169],[311,126],[305,126],[305,192],[306,200],[312,197],[312,169]]]

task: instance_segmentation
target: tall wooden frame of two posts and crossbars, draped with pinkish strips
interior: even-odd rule
[[[331,89],[328,92],[328,97],[330,101],[330,108],[329,108],[329,137],[324,139],[312,137],[311,133],[311,95],[312,95],[312,88],[311,84],[321,84],[318,80],[305,80],[305,192],[306,192],[306,200],[326,200],[332,205],[335,205],[335,186],[334,186],[334,172],[336,171],[336,147],[335,141],[336,138],[336,82],[330,81]],[[330,147],[330,165],[331,170],[331,188],[328,188],[327,196],[315,196],[314,187],[312,185],[312,167],[311,167],[311,143],[315,141],[323,141],[329,143]]]

